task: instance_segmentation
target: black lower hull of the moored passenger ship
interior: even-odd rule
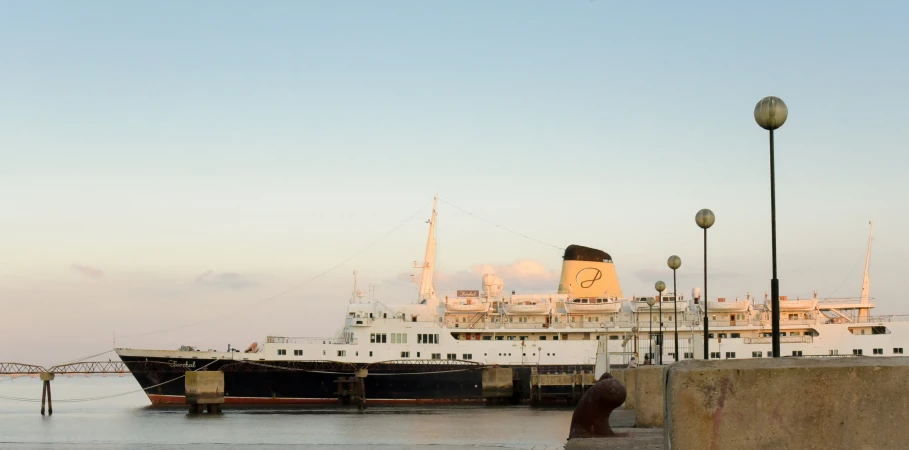
[[[188,370],[224,372],[227,404],[318,404],[338,403],[338,379],[354,376],[365,367],[367,402],[375,403],[470,403],[483,402],[482,374],[485,366],[458,361],[354,364],[329,361],[257,361],[145,358],[121,356],[136,381],[154,404],[185,403],[182,375]],[[504,366],[503,366],[504,367]],[[531,366],[515,370],[512,401],[530,398]],[[534,366],[541,372],[592,372],[593,366]]]

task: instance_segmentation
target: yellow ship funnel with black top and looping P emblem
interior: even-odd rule
[[[615,265],[608,253],[569,245],[562,257],[559,293],[572,297],[622,297]]]

